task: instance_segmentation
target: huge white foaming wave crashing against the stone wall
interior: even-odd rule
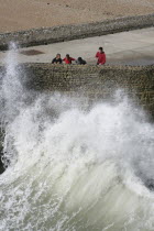
[[[84,107],[1,76],[0,230],[154,230],[154,128],[125,98]]]

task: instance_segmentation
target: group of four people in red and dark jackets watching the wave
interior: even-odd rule
[[[106,64],[106,53],[103,52],[102,47],[99,47],[99,51],[96,54],[97,58],[97,65],[103,65]],[[67,54],[65,58],[62,59],[61,54],[57,54],[56,57],[52,61],[52,64],[72,64],[73,62],[76,62],[78,65],[85,65],[87,64],[86,61],[84,61],[81,57],[73,58]]]

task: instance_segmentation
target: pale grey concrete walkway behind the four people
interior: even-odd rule
[[[14,53],[19,53],[18,59],[20,63],[51,63],[56,53],[61,53],[63,58],[68,53],[74,58],[81,56],[88,64],[96,64],[95,54],[99,46],[105,48],[107,64],[154,64],[154,28],[31,46],[19,48]],[[8,52],[0,52],[0,64],[6,62],[7,54]]]

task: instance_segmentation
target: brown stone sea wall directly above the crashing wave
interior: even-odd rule
[[[26,87],[37,91],[79,95],[91,101],[111,99],[122,89],[136,106],[154,118],[154,65],[152,66],[78,66],[24,64]]]

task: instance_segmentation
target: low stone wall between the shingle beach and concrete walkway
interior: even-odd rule
[[[147,15],[123,16],[87,24],[61,25],[2,33],[0,34],[0,50],[7,50],[10,42],[15,42],[20,46],[32,46],[150,26],[154,26],[154,13]]]

